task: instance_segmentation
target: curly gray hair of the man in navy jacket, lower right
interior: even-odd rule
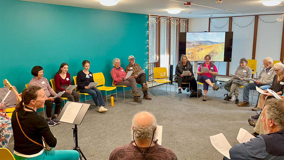
[[[284,129],[284,100],[283,99],[268,99],[265,102],[266,120],[271,118],[274,124],[278,125],[279,129]]]

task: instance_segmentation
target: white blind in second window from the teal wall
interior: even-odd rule
[[[161,17],[160,67],[166,67],[169,75],[169,18]]]

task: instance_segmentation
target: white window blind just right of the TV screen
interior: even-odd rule
[[[254,16],[233,17],[232,20],[232,31],[234,33],[229,73],[234,74],[241,58],[252,59]]]

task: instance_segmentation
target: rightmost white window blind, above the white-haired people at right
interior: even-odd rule
[[[280,60],[282,30],[283,15],[259,16],[255,53],[258,73],[262,69],[260,66],[264,58],[271,57],[273,60]]]

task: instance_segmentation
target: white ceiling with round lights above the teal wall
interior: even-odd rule
[[[208,7],[214,7],[218,9],[232,9],[234,12],[243,13],[236,14],[229,11],[223,11],[218,9],[212,9],[208,7],[202,7],[197,5],[191,5],[191,7],[183,7],[183,3],[169,1],[169,0],[118,0],[118,4],[114,6],[103,6],[99,0],[24,0],[40,3],[49,3],[57,5],[66,5],[83,8],[103,9],[110,11],[120,11],[127,13],[140,13],[148,15],[161,15],[169,17],[181,17],[181,18],[208,18],[208,15],[212,17],[225,17],[225,16],[241,16],[252,14],[272,14],[283,13],[284,7],[277,6],[264,6],[263,0],[223,0],[221,4],[216,4],[216,0],[180,0],[183,2],[191,2],[197,5],[204,5]],[[284,0],[281,0],[281,5],[284,5]],[[167,9],[181,9],[181,13],[169,14]],[[187,12],[192,12],[188,14]]]

